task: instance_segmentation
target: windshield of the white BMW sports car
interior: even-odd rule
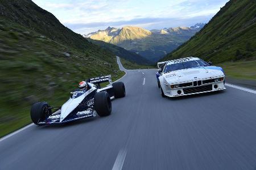
[[[189,69],[194,67],[200,67],[200,66],[209,66],[207,62],[198,59],[198,60],[192,60],[192,61],[185,61],[185,62],[178,62],[173,63],[170,65],[166,65],[164,68],[164,73],[168,73],[175,70],[181,70],[181,69]]]

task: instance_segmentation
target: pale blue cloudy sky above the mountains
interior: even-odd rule
[[[32,0],[82,35],[133,25],[150,29],[207,23],[228,0]]]

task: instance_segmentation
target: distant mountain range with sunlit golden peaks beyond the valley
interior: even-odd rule
[[[84,37],[121,46],[151,62],[156,62],[189,40],[204,25],[204,23],[197,23],[191,27],[152,29],[150,31],[133,26],[125,26],[123,28],[108,27],[105,30],[98,30],[84,35]]]

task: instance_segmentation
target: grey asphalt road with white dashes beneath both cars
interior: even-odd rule
[[[126,70],[112,114],[32,125],[0,142],[0,169],[256,169],[256,95],[163,98],[156,70]]]

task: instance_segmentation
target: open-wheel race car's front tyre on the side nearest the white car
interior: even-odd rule
[[[109,116],[112,111],[112,103],[108,92],[101,91],[94,96],[94,108],[98,116]]]

